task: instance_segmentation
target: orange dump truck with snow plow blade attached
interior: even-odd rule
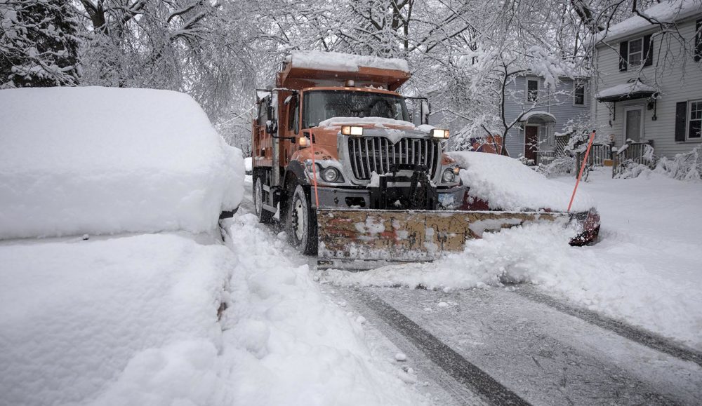
[[[371,269],[437,259],[484,231],[562,222],[564,212],[465,211],[467,188],[428,125],[425,97],[397,93],[406,61],[293,52],[256,90],[253,205],[320,267]]]

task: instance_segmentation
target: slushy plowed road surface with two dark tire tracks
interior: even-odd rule
[[[247,194],[241,210],[249,212]],[[701,353],[530,285],[322,287],[364,316],[373,346],[407,355],[405,369],[437,403],[696,405],[702,398]]]

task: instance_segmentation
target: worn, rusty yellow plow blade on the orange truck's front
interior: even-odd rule
[[[318,210],[320,269],[373,269],[397,262],[429,262],[463,251],[486,231],[531,222],[569,222],[564,212]]]

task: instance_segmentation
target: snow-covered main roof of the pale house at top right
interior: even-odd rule
[[[702,14],[702,2],[699,0],[664,0],[663,3],[649,7],[641,13],[651,20],[671,23]],[[635,15],[597,34],[595,42],[615,41],[654,27],[656,26],[645,18]]]

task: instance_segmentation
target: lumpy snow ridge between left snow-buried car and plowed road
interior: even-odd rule
[[[404,374],[373,360],[364,332],[319,290],[307,264],[254,215],[228,229],[239,266],[222,324],[230,379],[241,405],[420,405]],[[385,366],[385,368],[384,368]]]

